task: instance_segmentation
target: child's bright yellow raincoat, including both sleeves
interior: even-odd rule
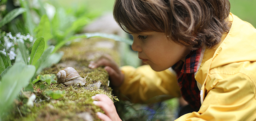
[[[256,29],[230,13],[231,29],[215,49],[202,49],[195,73],[201,91],[198,112],[175,121],[256,120]],[[137,69],[124,66],[124,83],[119,88],[132,102],[151,102],[180,96],[171,69],[153,71],[148,65]]]

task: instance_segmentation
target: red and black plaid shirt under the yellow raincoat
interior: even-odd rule
[[[195,80],[195,72],[199,63],[201,48],[191,51],[184,61],[176,63],[172,68],[176,71],[178,76],[178,83],[182,97],[189,103],[195,110],[199,110],[200,103],[200,90],[197,88]]]

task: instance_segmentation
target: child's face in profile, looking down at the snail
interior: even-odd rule
[[[184,61],[190,52],[186,47],[168,40],[165,33],[153,31],[132,36],[132,50],[138,51],[143,63],[150,65],[155,71],[163,71],[179,60]]]

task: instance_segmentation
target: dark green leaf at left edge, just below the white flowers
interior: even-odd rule
[[[0,51],[0,57],[0,73],[2,73],[5,69],[7,69],[7,67],[11,66],[11,60],[6,51]]]

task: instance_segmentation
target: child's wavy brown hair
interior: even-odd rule
[[[115,0],[115,21],[127,33],[164,32],[196,50],[213,48],[228,32],[228,0]]]

